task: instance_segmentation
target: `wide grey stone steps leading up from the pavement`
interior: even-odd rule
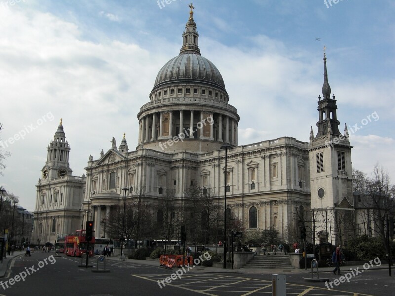
[[[256,255],[251,261],[243,268],[245,269],[267,269],[267,268],[293,268],[288,255],[285,253],[277,252],[276,255],[270,252],[270,255]],[[267,253],[266,253],[267,254]]]

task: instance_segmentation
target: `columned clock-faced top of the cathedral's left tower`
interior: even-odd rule
[[[70,147],[63,131],[62,119],[58,129],[47,147],[48,154],[45,166],[42,168],[42,179],[50,180],[66,175],[71,175],[72,170],[69,166]]]

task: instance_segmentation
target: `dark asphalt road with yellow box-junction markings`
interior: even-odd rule
[[[15,258],[10,273],[0,281],[0,296],[272,295],[271,275],[256,271],[212,273],[210,268],[200,266],[168,270],[107,260],[109,273],[93,273],[96,259],[90,260],[93,268],[79,268],[80,258],[53,255],[38,252],[32,257]],[[336,278],[329,273],[321,276]],[[287,274],[287,295],[394,295],[394,276],[390,278],[387,270],[366,271],[332,290],[325,283],[305,282],[304,277],[303,273]]]

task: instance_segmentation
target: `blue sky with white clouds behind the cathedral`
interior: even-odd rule
[[[159,3],[159,4],[158,4]],[[326,3],[326,4],[325,4]],[[161,67],[179,54],[189,1],[0,0],[0,185],[33,211],[60,118],[73,175],[89,155],[138,142],[137,113]],[[353,167],[384,166],[395,183],[395,2],[195,0],[202,56],[240,115],[239,145],[317,132],[328,80]]]

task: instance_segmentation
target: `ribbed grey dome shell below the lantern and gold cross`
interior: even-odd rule
[[[160,69],[154,88],[172,82],[203,82],[226,91],[218,68],[199,53],[182,52],[168,61]]]

